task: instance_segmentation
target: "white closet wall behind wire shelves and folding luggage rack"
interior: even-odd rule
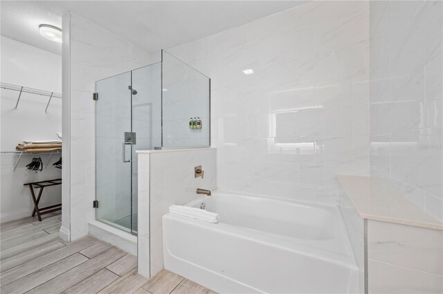
[[[62,57],[1,36],[1,82],[28,86],[45,91],[62,92]],[[18,92],[1,89],[1,151],[15,150],[23,140],[57,139],[62,131],[62,101],[23,93],[17,109]],[[33,202],[24,183],[61,178],[62,172],[52,166],[60,156],[53,156],[42,172],[30,172],[26,165],[33,156],[22,156],[13,171],[17,155],[1,155],[1,222],[30,216]],[[42,156],[46,163],[48,155]],[[60,203],[62,187],[46,187],[42,207]]]

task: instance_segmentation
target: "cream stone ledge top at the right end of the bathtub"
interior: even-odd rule
[[[389,190],[378,178],[345,175],[337,178],[363,219],[443,230],[442,221]]]

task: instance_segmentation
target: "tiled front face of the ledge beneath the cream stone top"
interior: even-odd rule
[[[442,240],[442,230],[369,220],[369,293],[442,293]]]

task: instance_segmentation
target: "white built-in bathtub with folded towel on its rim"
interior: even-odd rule
[[[219,293],[357,293],[358,268],[338,209],[214,193],[188,203],[205,223],[163,216],[165,268]]]

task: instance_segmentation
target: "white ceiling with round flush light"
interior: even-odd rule
[[[235,28],[307,1],[1,1],[1,35],[53,53],[62,46],[39,35],[76,14],[156,53]]]

